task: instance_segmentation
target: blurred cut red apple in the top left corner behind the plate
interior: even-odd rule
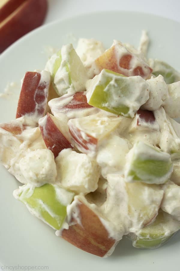
[[[1,0],[0,53],[40,26],[47,13],[47,0]]]

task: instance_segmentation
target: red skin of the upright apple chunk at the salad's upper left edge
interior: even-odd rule
[[[44,101],[47,100],[46,87],[48,82],[39,85],[40,80],[41,73],[26,72],[19,95],[16,118],[26,114],[32,114],[32,118],[33,114],[38,115],[39,118],[44,116],[46,110],[44,106],[47,106],[47,102],[45,104]],[[37,112],[36,104],[40,105]]]

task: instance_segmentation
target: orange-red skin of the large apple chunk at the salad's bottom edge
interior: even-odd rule
[[[73,219],[71,222],[75,224],[62,231],[62,238],[77,248],[103,257],[116,240],[109,238],[109,233],[99,217],[85,204],[80,203],[78,208],[82,225]]]

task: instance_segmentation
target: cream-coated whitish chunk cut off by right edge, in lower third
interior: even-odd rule
[[[180,221],[180,186],[169,182],[164,188],[165,192],[161,209]]]

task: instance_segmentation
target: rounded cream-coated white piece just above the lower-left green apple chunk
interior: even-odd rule
[[[52,151],[48,149],[36,149],[30,151],[19,161],[21,173],[27,182],[35,186],[41,186],[45,183],[54,183],[57,170]]]

